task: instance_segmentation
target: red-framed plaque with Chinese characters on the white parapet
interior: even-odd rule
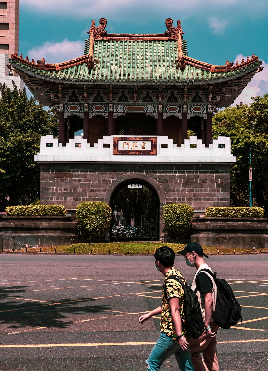
[[[114,155],[156,155],[156,137],[113,137]]]

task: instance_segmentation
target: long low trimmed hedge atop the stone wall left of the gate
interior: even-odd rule
[[[66,216],[62,205],[8,206],[5,211],[8,216]]]

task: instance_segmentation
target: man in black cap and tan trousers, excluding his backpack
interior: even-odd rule
[[[184,255],[188,266],[197,269],[191,288],[198,296],[203,314],[204,332],[198,339],[188,340],[194,368],[198,371],[219,371],[216,349],[216,334],[219,326],[212,316],[212,311],[216,306],[217,286],[209,273],[200,272],[204,268],[211,270],[203,258],[203,256],[207,258],[208,256],[203,252],[202,246],[196,242],[188,243],[178,254]],[[201,352],[203,352],[203,358],[200,355]]]

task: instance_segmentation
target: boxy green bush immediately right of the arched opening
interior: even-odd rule
[[[163,222],[165,232],[171,238],[188,237],[190,221],[194,216],[194,208],[187,204],[167,204],[163,206]]]

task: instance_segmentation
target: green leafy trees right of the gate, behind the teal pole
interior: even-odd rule
[[[249,154],[253,170],[254,206],[267,213],[268,200],[268,94],[253,97],[249,105],[240,103],[218,112],[213,118],[213,138],[231,139],[237,158],[230,171],[230,197],[234,206],[249,204]]]

